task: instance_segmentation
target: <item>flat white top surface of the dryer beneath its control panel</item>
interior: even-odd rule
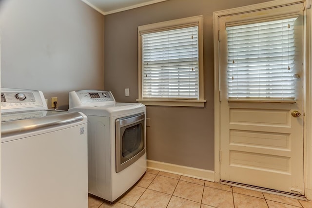
[[[115,103],[114,105],[78,106],[68,111],[82,112],[86,115],[114,117],[145,111],[145,105],[141,103]]]

